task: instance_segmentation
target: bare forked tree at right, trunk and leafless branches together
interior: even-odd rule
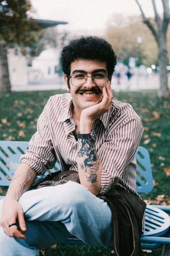
[[[145,23],[150,31],[152,32],[156,43],[158,45],[158,62],[159,62],[159,73],[160,73],[160,92],[159,96],[163,98],[169,97],[169,88],[167,82],[167,69],[168,57],[167,57],[167,29],[170,19],[169,0],[162,0],[163,6],[163,19],[160,18],[155,0],[152,0],[153,10],[155,14],[154,23],[151,19],[147,18],[143,12],[143,9],[138,0],[135,0],[142,14],[143,23]]]

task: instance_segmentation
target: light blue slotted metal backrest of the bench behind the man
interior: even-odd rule
[[[29,142],[24,141],[0,141],[0,186],[9,186],[10,180],[19,166],[19,158],[28,149]],[[136,152],[137,175],[136,191],[138,193],[148,193],[153,188],[152,170],[150,157],[146,148],[139,146]],[[50,172],[60,170],[60,164],[56,162]]]

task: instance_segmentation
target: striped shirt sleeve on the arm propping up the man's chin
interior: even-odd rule
[[[102,164],[100,194],[107,193],[119,182],[134,159],[142,132],[141,120],[136,117],[125,119],[116,128],[114,125],[109,128],[106,140],[97,152]]]

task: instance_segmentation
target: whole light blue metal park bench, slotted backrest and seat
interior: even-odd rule
[[[0,141],[0,186],[9,186],[12,176],[19,166],[19,157],[28,149],[28,145],[29,142]],[[146,148],[139,146],[135,156],[137,160],[136,191],[138,193],[148,193],[153,189],[149,153]],[[56,162],[53,169],[47,170],[44,175],[57,170],[60,170],[58,162]],[[0,196],[0,199],[2,198],[3,196]],[[170,211],[169,206],[147,205],[145,210],[145,232],[141,237],[142,249],[156,249],[161,244],[164,244],[165,248],[165,244],[170,244],[170,237],[168,236],[170,218],[166,211]],[[84,245],[77,238],[70,238],[62,243]]]

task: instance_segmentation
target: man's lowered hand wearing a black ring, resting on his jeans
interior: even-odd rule
[[[12,223],[16,223],[18,219],[19,228],[17,226],[9,225]],[[22,210],[22,206],[15,200],[5,198],[2,205],[2,215],[0,225],[4,229],[5,233],[10,237],[18,237],[20,239],[25,239],[24,233],[27,231],[24,213]]]

